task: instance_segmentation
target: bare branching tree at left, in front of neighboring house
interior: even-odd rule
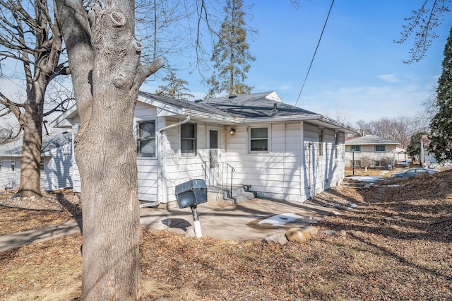
[[[0,61],[20,62],[26,86],[22,102],[0,91],[4,114],[14,114],[23,130],[19,194],[40,196],[44,95],[52,79],[69,73],[59,61],[62,37],[46,0],[0,1],[0,20]]]

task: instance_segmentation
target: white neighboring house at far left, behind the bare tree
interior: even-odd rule
[[[72,134],[42,136],[41,190],[72,187]],[[0,187],[18,188],[23,140],[0,146]]]

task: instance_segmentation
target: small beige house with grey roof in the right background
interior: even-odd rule
[[[348,167],[387,168],[393,166],[397,157],[397,141],[366,135],[345,141],[345,161]],[[366,166],[367,165],[367,166]]]

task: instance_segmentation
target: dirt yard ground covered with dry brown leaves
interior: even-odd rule
[[[324,191],[308,202],[336,208],[316,226],[337,235],[304,244],[142,228],[143,300],[452,300],[451,183],[446,171],[398,187]],[[71,191],[47,198],[53,211],[0,206],[2,235],[80,214]],[[0,300],[77,300],[81,242],[76,234],[0,252]]]

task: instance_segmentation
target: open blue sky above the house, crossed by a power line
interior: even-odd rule
[[[246,83],[252,92],[275,90],[283,102],[326,114],[355,125],[359,119],[415,117],[432,93],[441,74],[441,61],[450,26],[449,20],[436,30],[440,35],[419,63],[404,64],[413,45],[393,43],[400,38],[404,18],[423,0],[336,0],[314,64],[297,102],[331,1],[302,1],[299,10],[289,0],[256,1],[247,23],[259,30],[249,40],[251,64]],[[245,1],[250,3],[250,1]],[[210,74],[207,74],[210,75]],[[196,98],[207,88],[195,73],[177,73],[189,81]],[[159,83],[143,90],[155,92]]]

